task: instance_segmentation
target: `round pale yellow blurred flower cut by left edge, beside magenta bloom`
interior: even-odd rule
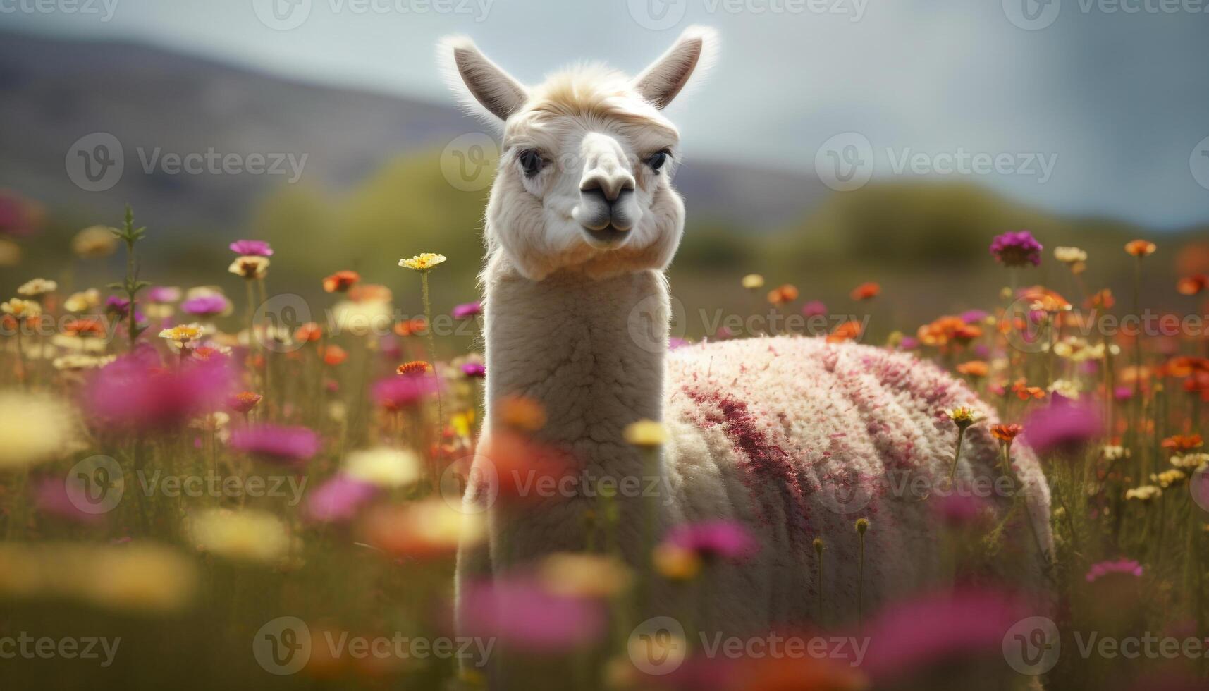
[[[75,413],[48,396],[0,392],[0,471],[62,454],[75,438]]]

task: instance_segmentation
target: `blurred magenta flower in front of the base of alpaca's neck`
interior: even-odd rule
[[[517,650],[573,650],[604,633],[602,603],[551,594],[533,580],[472,583],[461,597],[459,623],[470,635],[498,638]]]

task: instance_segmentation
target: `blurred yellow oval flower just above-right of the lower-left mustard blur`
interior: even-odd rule
[[[189,532],[198,549],[237,562],[273,564],[290,546],[280,519],[255,509],[206,509],[190,520]]]

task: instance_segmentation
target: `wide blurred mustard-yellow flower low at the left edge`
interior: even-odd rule
[[[161,545],[0,543],[0,599],[71,599],[167,612],[184,609],[197,585],[195,563]]]

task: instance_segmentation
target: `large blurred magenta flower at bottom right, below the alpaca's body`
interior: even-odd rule
[[[862,669],[874,684],[901,684],[932,664],[999,655],[1003,635],[1028,611],[995,591],[959,589],[891,605],[862,635],[869,650]]]

